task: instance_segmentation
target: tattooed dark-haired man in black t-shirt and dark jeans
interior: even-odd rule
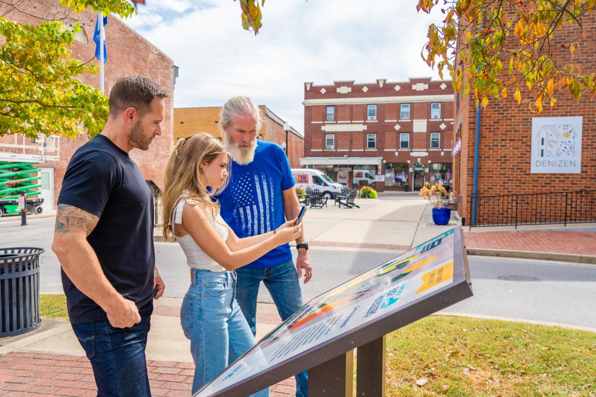
[[[100,396],[151,396],[145,346],[152,299],[164,284],[155,267],[151,192],[128,153],[162,135],[163,98],[147,77],[117,80],[103,131],[75,152],[58,197],[52,250]]]

